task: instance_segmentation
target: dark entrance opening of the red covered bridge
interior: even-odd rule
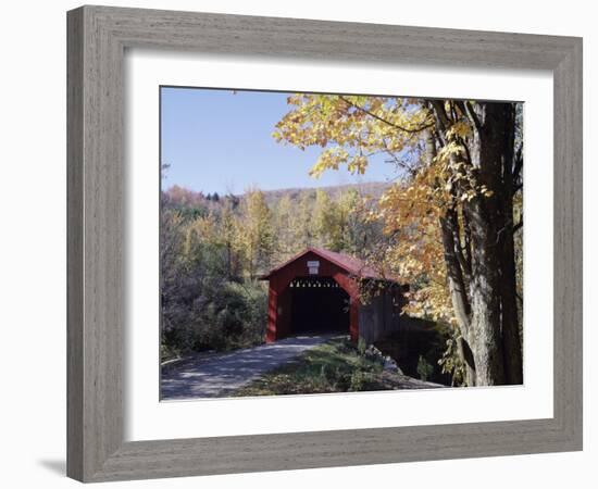
[[[349,294],[331,277],[298,277],[289,285],[291,334],[349,333]]]

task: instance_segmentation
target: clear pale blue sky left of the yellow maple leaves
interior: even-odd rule
[[[204,193],[242,193],[359,181],[385,181],[395,168],[383,158],[365,175],[346,168],[308,175],[321,148],[301,151],[272,137],[289,111],[288,93],[162,87],[162,163],[170,165],[162,188],[173,185]]]

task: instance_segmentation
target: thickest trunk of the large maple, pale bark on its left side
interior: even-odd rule
[[[477,170],[477,183],[490,191],[487,196],[475,197],[465,205],[472,233],[472,343],[477,381],[481,385],[509,383],[506,358],[513,354],[510,350],[512,338],[509,337],[507,344],[503,341],[503,326],[508,325],[510,330],[510,318],[504,315],[504,305],[509,305],[507,299],[510,294],[514,298],[515,292],[514,285],[508,291],[509,285],[504,281],[504,271],[509,266],[514,269],[514,255],[504,255],[508,240],[503,237],[509,231],[504,201],[512,198],[502,180],[504,160],[509,154],[512,156],[504,137],[514,130],[510,111],[509,103],[478,103],[475,113],[472,111],[471,114],[476,127],[475,150],[471,153]]]

